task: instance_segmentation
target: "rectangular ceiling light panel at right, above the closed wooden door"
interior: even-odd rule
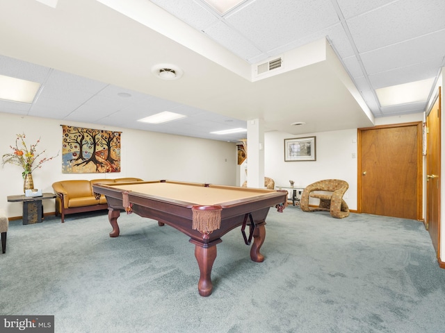
[[[423,102],[428,99],[434,78],[375,89],[382,107]]]

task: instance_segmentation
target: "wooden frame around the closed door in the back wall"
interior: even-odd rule
[[[362,131],[380,130],[382,128],[398,128],[407,126],[417,127],[417,198],[416,198],[416,219],[423,222],[423,155],[422,155],[422,121],[412,121],[409,123],[393,123],[388,125],[378,125],[366,128],[357,128],[357,212],[362,213]]]

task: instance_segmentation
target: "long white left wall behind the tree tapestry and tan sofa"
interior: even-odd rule
[[[66,179],[96,179],[138,177],[143,180],[181,180],[236,185],[236,144],[179,135],[97,126],[17,116],[0,113],[0,155],[10,153],[19,133],[26,134],[26,144],[35,144],[40,137],[37,152],[46,149],[42,157],[61,152],[63,125],[103,128],[122,132],[120,173],[62,173],[62,156],[42,164],[33,172],[34,187],[53,192],[53,182]],[[7,196],[23,194],[22,169],[12,164],[0,167],[0,207],[8,217],[22,216],[22,203],[8,203]],[[42,200],[44,212],[54,212],[54,200]]]

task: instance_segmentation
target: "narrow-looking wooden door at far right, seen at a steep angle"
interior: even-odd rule
[[[430,113],[426,117],[427,155],[426,155],[426,228],[430,232],[432,245],[439,255],[440,244],[440,89]]]

